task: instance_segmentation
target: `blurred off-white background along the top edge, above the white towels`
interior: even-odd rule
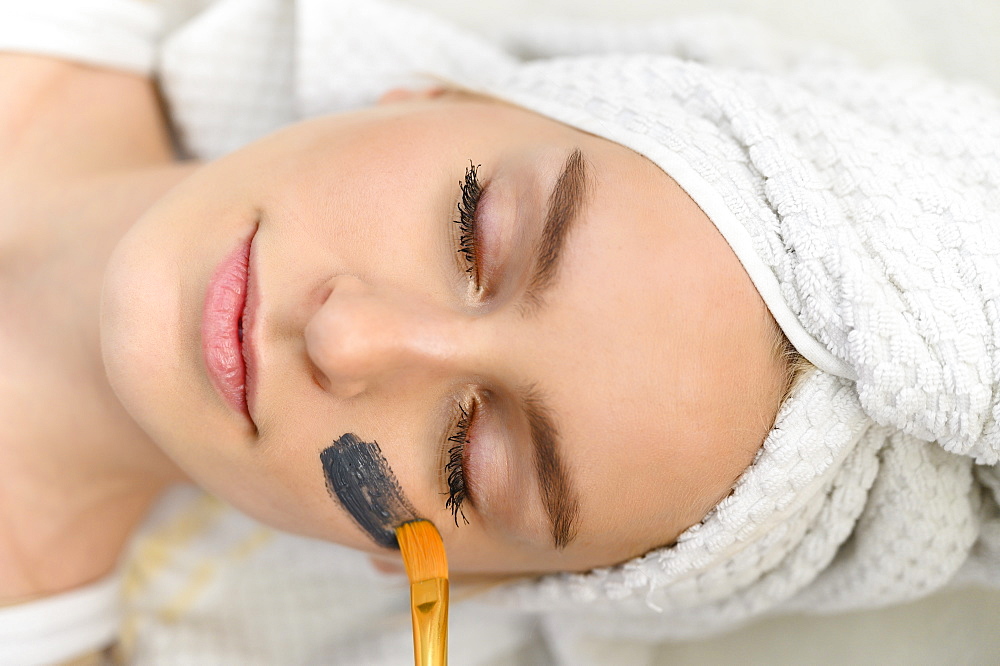
[[[404,0],[484,33],[525,18],[646,21],[694,13],[753,16],[865,62],[905,61],[1000,90],[998,0]]]

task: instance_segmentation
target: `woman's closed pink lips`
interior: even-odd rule
[[[208,376],[226,404],[251,422],[255,358],[249,333],[257,295],[250,289],[253,282],[248,277],[255,233],[256,228],[219,262],[208,283],[201,319],[201,348]]]

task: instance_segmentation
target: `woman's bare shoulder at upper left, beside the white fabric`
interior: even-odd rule
[[[0,179],[54,179],[171,160],[147,77],[0,53]]]

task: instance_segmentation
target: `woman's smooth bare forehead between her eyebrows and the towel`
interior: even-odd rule
[[[728,244],[658,167],[583,135],[591,174],[537,371],[581,503],[622,559],[725,494],[777,410],[773,322]],[[558,347],[558,348],[557,348]]]

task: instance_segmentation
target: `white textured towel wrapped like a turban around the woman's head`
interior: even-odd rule
[[[511,593],[575,631],[610,608],[586,631],[882,606],[970,555],[1000,582],[1000,541],[977,544],[984,522],[997,536],[1000,496],[1000,102],[823,54],[775,61],[576,56],[482,87],[663,168],[816,366],[676,544]]]

